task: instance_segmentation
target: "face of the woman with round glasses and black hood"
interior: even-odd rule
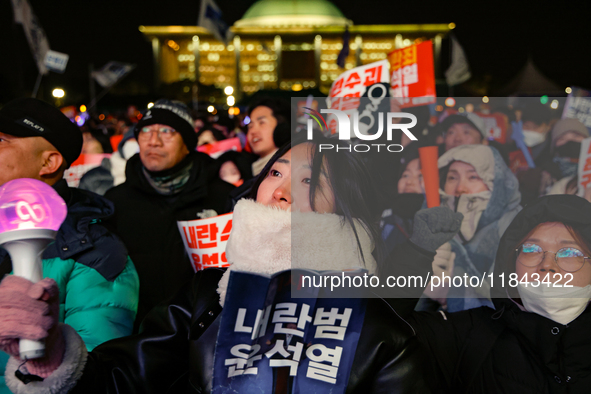
[[[578,249],[584,255],[583,248],[570,234],[568,229],[562,223],[552,222],[540,225],[524,242],[526,251],[534,252],[543,250],[546,253],[539,255],[539,263],[532,264],[531,261],[538,261],[530,257],[530,253],[518,252],[515,262],[515,272],[519,280],[535,282],[536,279],[542,282],[548,275],[548,280],[552,283],[560,282],[572,286],[585,287],[591,284],[591,263],[585,259],[582,268],[576,272],[565,270],[561,265],[567,267],[567,262],[560,265],[556,262],[556,252],[562,249],[564,256],[576,256],[573,249]],[[536,247],[537,245],[538,247]],[[567,248],[567,249],[565,249]],[[521,246],[520,246],[521,250]],[[532,253],[533,256],[534,253]],[[587,256],[589,257],[589,256]],[[572,257],[568,257],[572,258]],[[568,274],[568,275],[567,275]],[[572,274],[572,277],[571,277]],[[525,278],[524,278],[525,276]],[[571,279],[569,281],[569,279]],[[568,283],[567,283],[568,282]]]

